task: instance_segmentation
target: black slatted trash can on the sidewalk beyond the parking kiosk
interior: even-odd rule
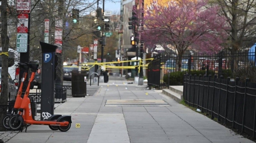
[[[85,97],[86,96],[86,81],[87,71],[72,71],[72,96]]]

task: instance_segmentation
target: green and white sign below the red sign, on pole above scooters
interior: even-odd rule
[[[28,45],[28,34],[18,33],[17,34],[17,52],[26,53]]]

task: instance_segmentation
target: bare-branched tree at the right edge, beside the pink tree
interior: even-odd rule
[[[213,0],[230,26],[226,49],[235,55],[238,50],[250,48],[256,42],[256,3],[254,0]],[[238,63],[232,57],[231,69]]]

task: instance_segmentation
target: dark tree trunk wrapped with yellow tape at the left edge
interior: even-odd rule
[[[2,52],[8,53],[9,37],[7,34],[7,0],[2,0],[1,6],[1,40],[2,40]],[[2,70],[1,70],[1,97],[0,105],[7,105],[8,101],[8,54],[2,53]],[[0,121],[2,122],[5,115],[0,115]],[[0,127],[0,131],[4,130]]]

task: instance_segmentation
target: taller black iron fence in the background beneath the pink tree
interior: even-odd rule
[[[177,74],[181,71],[180,76],[183,78],[184,73],[192,74],[194,71],[208,70],[215,73],[218,77],[231,76],[234,70],[240,67],[247,67],[255,63],[255,52],[239,51],[230,53],[230,51],[221,51],[217,54],[184,54],[181,59],[178,56],[168,56],[158,54],[154,56],[154,60],[148,64],[148,86],[154,86],[158,89],[169,88],[169,83],[173,85],[182,85],[172,81],[172,74]],[[194,72],[195,73],[195,72]],[[170,79],[169,79],[170,76]]]

